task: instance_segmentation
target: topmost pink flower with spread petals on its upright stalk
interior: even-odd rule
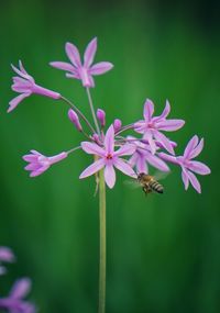
[[[85,51],[84,64],[81,63],[78,48],[74,44],[66,43],[65,49],[72,64],[66,62],[51,62],[50,65],[67,71],[66,77],[68,78],[80,79],[84,87],[95,87],[92,76],[105,74],[113,67],[109,62],[100,62],[92,65],[97,51],[96,37],[88,44]]]

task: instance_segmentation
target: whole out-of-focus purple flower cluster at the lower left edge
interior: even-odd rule
[[[14,255],[8,247],[0,247],[0,261],[14,261]],[[2,270],[3,269],[3,270]],[[0,275],[6,273],[6,268],[0,267]],[[16,280],[8,297],[0,298],[0,310],[9,313],[35,313],[35,306],[24,300],[31,290],[31,280],[21,278]]]

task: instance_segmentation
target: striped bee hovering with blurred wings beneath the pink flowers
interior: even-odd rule
[[[164,187],[151,175],[140,172],[138,175],[136,180],[141,185],[146,195],[152,191],[155,191],[157,193],[164,193]]]

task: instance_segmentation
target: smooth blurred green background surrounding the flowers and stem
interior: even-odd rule
[[[108,190],[107,312],[220,312],[219,114],[220,22],[218,1],[1,1],[0,2],[0,245],[18,262],[1,278],[33,279],[41,313],[94,313],[98,300],[99,224],[94,178],[79,181],[91,163],[72,155],[30,179],[21,156],[31,148],[53,155],[78,145],[65,104],[33,96],[11,114],[10,63],[22,59],[42,86],[89,113],[79,81],[51,68],[66,60],[65,42],[84,51],[98,36],[96,60],[114,69],[96,78],[96,107],[130,123],[146,97],[186,120],[173,134],[182,153],[193,134],[206,138],[200,157],[212,169],[199,177],[202,194],[187,192],[174,168],[163,197],[145,199],[118,174]]]

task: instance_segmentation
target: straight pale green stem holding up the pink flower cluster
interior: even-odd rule
[[[100,223],[100,259],[99,259],[99,313],[106,308],[106,182],[103,169],[99,172],[99,223]]]

